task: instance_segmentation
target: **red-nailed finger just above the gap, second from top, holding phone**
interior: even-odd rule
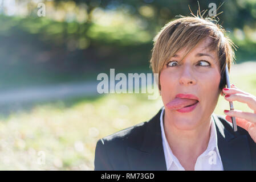
[[[254,113],[256,111],[256,98],[251,97],[247,94],[243,93],[234,93],[230,95],[226,95],[225,100],[231,102],[231,101],[238,101],[238,102],[243,102],[247,104],[252,110],[254,110]]]

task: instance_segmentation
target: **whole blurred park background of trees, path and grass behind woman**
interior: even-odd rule
[[[222,2],[219,23],[239,47],[231,83],[256,95],[256,1],[199,1],[201,10]],[[188,5],[196,14],[185,0],[0,0],[0,169],[94,169],[99,138],[162,106],[147,94],[96,94],[97,75],[151,73],[153,37]],[[228,108],[220,97],[214,113]]]

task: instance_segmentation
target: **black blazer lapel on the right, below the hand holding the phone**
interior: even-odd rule
[[[232,134],[214,113],[213,118],[217,130],[218,150],[224,170],[251,170],[253,166],[247,135]],[[226,124],[229,125],[229,123]]]

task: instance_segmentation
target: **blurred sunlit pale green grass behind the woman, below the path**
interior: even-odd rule
[[[256,74],[233,75],[231,83],[256,95]],[[147,96],[108,94],[41,103],[10,113],[0,121],[0,169],[92,170],[98,139],[147,121],[159,111],[161,98]],[[234,107],[251,111],[237,101]],[[220,96],[214,113],[224,115],[224,109],[229,103]],[[40,163],[40,151],[45,164]]]

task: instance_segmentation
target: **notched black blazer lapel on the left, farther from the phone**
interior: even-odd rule
[[[131,170],[166,171],[164,150],[162,148],[161,110],[147,123],[143,143],[139,149],[127,147]]]

